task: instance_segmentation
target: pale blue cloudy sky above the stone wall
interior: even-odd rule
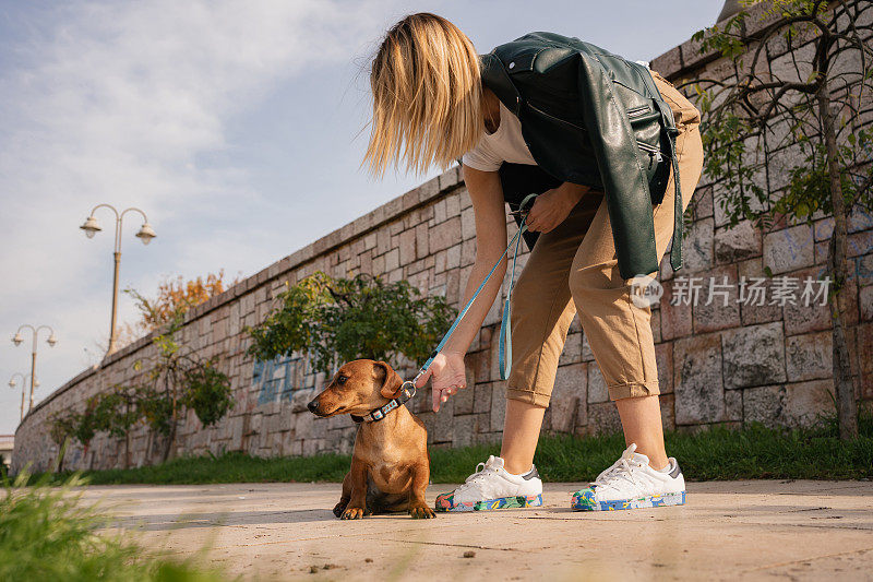
[[[709,26],[719,1],[0,0],[0,435],[19,424],[38,340],[35,401],[99,361],[109,335],[111,211],[128,213],[120,288],[264,266],[439,174],[360,166],[367,67],[411,12],[447,17],[488,52],[533,31],[650,60]],[[121,294],[120,321],[135,308]]]

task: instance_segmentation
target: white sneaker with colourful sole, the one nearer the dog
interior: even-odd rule
[[[436,511],[486,511],[542,504],[542,480],[537,467],[524,475],[503,468],[503,459],[491,455],[476,473],[452,492],[436,497]]]

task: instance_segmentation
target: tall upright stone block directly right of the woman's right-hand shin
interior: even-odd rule
[[[677,425],[725,420],[721,337],[710,334],[677,340],[673,361]]]

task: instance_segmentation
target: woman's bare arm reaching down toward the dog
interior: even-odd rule
[[[464,302],[473,297],[494,263],[506,250],[506,211],[503,202],[503,188],[497,171],[481,171],[463,166],[464,182],[467,186],[473,210],[476,216],[476,262],[467,280]],[[418,381],[418,387],[432,379],[433,409],[440,409],[458,389],[466,388],[464,355],[474,337],[482,326],[488,310],[497,298],[506,273],[506,259],[503,257],[494,275],[476,298],[467,314],[461,321],[442,352],[433,359],[433,364]]]

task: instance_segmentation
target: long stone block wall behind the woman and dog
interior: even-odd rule
[[[728,79],[732,64],[715,55],[699,55],[685,43],[655,59],[653,69],[678,82],[706,75]],[[780,67],[785,55],[769,55]],[[869,122],[869,108],[860,118]],[[780,168],[798,155],[791,147],[774,153],[763,185],[773,190],[786,183]],[[701,183],[694,194],[693,224],[683,245],[685,266],[674,276],[669,258],[662,262],[665,298],[653,309],[657,342],[661,407],[667,428],[739,425],[750,420],[797,425],[833,409],[829,316],[826,306],[804,307],[796,300],[770,305],[738,302],[738,284],[764,277],[798,282],[822,271],[832,219],[814,225],[777,224],[762,234],[748,223],[728,228],[718,200],[718,185]],[[873,352],[873,218],[856,212],[850,219],[850,260],[854,268],[852,318],[858,322],[860,354]],[[514,233],[510,224],[510,235]],[[474,215],[469,197],[454,167],[443,175],[375,209],[343,228],[264,269],[225,294],[193,309],[181,331],[186,343],[205,356],[217,356],[232,381],[236,407],[217,426],[203,429],[190,414],[181,421],[180,454],[244,451],[255,455],[309,455],[347,452],[355,428],[348,417],[316,419],[306,411],[322,375],[304,359],[256,363],[244,355],[242,329],[261,321],[286,282],[294,284],[318,270],[346,276],[362,272],[387,281],[405,278],[424,293],[444,294],[457,305],[475,254]],[[526,260],[522,256],[521,264]],[[699,277],[693,280],[692,277]],[[702,284],[697,305],[671,305],[694,281]],[[709,282],[725,284],[723,293],[706,305]],[[505,284],[504,290],[505,294]],[[727,301],[727,304],[726,304]],[[440,414],[428,409],[429,394],[411,407],[427,424],[434,446],[465,446],[500,438],[505,383],[499,380],[497,333],[500,300],[468,354],[468,384]],[[47,426],[51,414],[81,408],[85,399],[117,383],[136,380],[134,363],[154,355],[144,337],[86,370],[39,403],[19,427],[13,470],[34,463],[47,468],[57,448]],[[411,372],[412,370],[405,370]],[[873,365],[859,358],[864,399],[873,399]],[[576,320],[571,328],[543,430],[590,433],[619,428],[615,407],[608,401],[603,379]],[[131,437],[134,465],[154,462],[157,447],[145,429]],[[115,467],[124,462],[124,443],[98,436],[88,451],[74,446],[65,467]]]

